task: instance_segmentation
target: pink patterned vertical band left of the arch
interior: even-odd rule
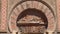
[[[0,31],[5,32],[7,28],[7,20],[6,20],[6,10],[7,10],[7,0],[1,0],[1,27]]]

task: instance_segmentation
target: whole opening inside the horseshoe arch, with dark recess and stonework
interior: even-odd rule
[[[48,27],[48,20],[45,14],[41,10],[31,8],[22,11],[16,23],[17,27],[24,34],[43,34],[44,30]]]

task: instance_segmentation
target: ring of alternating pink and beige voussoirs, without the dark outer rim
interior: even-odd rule
[[[55,30],[55,18],[54,15],[52,14],[51,10],[49,9],[49,7],[47,7],[46,5],[44,5],[41,2],[37,2],[37,1],[26,1],[23,2],[21,4],[19,4],[18,6],[16,6],[11,15],[10,15],[10,19],[9,19],[9,28],[11,31],[16,30],[17,26],[16,26],[16,20],[18,15],[28,9],[28,8],[35,8],[37,10],[41,10],[47,17],[48,19],[48,28],[49,30]]]

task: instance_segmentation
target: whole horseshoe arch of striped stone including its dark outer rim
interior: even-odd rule
[[[28,6],[26,5],[28,4]],[[23,7],[22,7],[23,6]],[[10,31],[18,31],[18,27],[16,26],[16,20],[18,15],[25,9],[35,8],[41,10],[48,19],[48,28],[47,32],[54,32],[56,28],[56,18],[52,8],[42,0],[23,0],[17,3],[11,10],[9,14],[9,28]],[[20,9],[20,10],[19,10]],[[46,12],[45,12],[46,11]]]

